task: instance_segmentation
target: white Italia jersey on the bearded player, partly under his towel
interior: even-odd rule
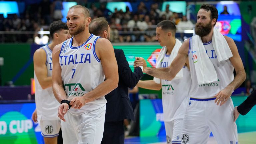
[[[215,71],[217,73],[218,81],[199,85],[197,82],[197,76],[196,76],[196,71],[195,71],[195,66],[193,61],[193,55],[195,55],[196,52],[193,50],[194,47],[193,47],[192,39],[193,37],[190,38],[190,46],[189,46],[190,48],[188,52],[189,66],[190,66],[190,72],[191,72],[191,78],[192,78],[192,85],[191,85],[189,96],[192,98],[198,98],[198,99],[211,98],[234,80],[234,74],[233,74],[234,67],[231,64],[229,59],[222,62],[218,61],[217,55],[214,51],[211,41],[208,43],[203,43],[206,53],[209,59],[211,60],[215,68]]]

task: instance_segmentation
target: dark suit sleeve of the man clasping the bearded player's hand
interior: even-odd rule
[[[119,52],[118,67],[119,78],[121,78],[129,88],[135,87],[139,82],[140,78],[143,76],[143,72],[140,67],[135,68],[134,72],[132,72],[123,50],[120,50]]]

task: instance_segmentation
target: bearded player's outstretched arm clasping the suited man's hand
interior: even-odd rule
[[[187,39],[181,45],[178,55],[172,61],[171,65],[168,68],[156,69],[156,68],[146,67],[143,72],[160,79],[172,80],[187,62],[188,48],[189,48],[189,39]]]

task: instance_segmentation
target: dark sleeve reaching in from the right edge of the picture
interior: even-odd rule
[[[238,107],[237,110],[241,115],[246,115],[252,107],[256,104],[256,90],[254,90],[248,97],[247,99],[241,103]]]

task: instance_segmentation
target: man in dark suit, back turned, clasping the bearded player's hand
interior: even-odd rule
[[[90,33],[102,38],[110,39],[110,27],[105,18],[93,19],[89,25]],[[143,76],[143,68],[146,61],[140,63],[140,67],[131,71],[125,58],[123,50],[114,49],[117,64],[119,82],[118,87],[105,96],[107,100],[104,133],[101,144],[123,144],[124,143],[124,119],[134,119],[131,102],[128,98],[128,87],[136,86]],[[140,59],[140,58],[137,58]]]

